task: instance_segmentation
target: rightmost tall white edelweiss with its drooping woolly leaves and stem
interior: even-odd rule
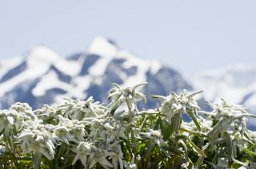
[[[232,160],[234,163],[239,163],[246,166],[247,163],[238,161],[236,158],[237,150],[242,151],[249,143],[254,145],[254,140],[248,140],[248,132],[246,129],[246,116],[256,117],[246,112],[245,108],[241,105],[227,104],[222,99],[221,104],[210,104],[213,112],[202,112],[205,116],[212,118],[215,121],[214,127],[207,132],[210,142],[203,148],[204,150],[211,147],[213,144],[219,145],[219,151],[223,151],[222,158],[219,158],[219,163],[225,162],[226,167],[227,159]],[[246,134],[245,134],[246,133]],[[226,146],[222,146],[226,143]],[[226,154],[226,152],[229,152]],[[225,160],[224,160],[225,159]]]

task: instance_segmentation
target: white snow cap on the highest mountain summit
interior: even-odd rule
[[[88,52],[92,54],[97,54],[102,57],[114,57],[117,53],[118,47],[114,44],[113,41],[108,40],[106,37],[96,37],[92,41]]]

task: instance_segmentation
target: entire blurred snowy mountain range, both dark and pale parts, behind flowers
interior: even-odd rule
[[[193,78],[195,89],[203,89],[206,100],[218,102],[225,98],[243,104],[256,112],[256,66],[230,65],[223,69],[198,73]],[[0,61],[0,108],[14,102],[26,102],[33,108],[56,104],[63,97],[95,100],[106,103],[112,83],[122,87],[147,81],[142,88],[147,96],[147,108],[155,100],[150,96],[168,95],[186,88],[192,90],[182,75],[158,61],[147,61],[119,49],[113,41],[97,37],[85,53],[62,57],[45,45],[37,45],[22,56]],[[202,100],[200,103],[202,106]],[[145,104],[139,104],[140,108]],[[254,120],[249,125],[256,128]]]

